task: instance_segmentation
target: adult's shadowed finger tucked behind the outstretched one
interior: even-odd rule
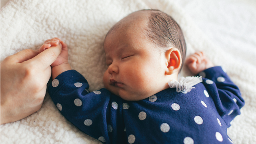
[[[10,58],[10,60],[12,60],[15,63],[22,63],[26,60],[34,58],[38,54],[39,54],[39,51],[37,51],[37,50],[26,49],[26,50],[17,52],[16,54],[14,54],[12,56],[8,56],[8,58]]]

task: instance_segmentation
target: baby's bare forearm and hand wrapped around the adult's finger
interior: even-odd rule
[[[44,42],[44,44],[40,47],[40,52],[50,48],[51,46],[60,46],[62,47],[62,51],[58,58],[55,60],[54,63],[51,64],[52,66],[52,79],[56,78],[62,72],[67,70],[71,70],[70,64],[68,64],[68,47],[67,45],[60,40],[60,38],[52,38],[48,39]]]

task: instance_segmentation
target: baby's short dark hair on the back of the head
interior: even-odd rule
[[[170,47],[177,48],[182,58],[181,70],[186,57],[186,42],[180,26],[171,16],[160,10],[147,11],[151,14],[146,27],[146,36],[153,44],[164,50]]]

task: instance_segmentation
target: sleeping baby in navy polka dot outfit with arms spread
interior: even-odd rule
[[[106,144],[233,143],[227,128],[244,106],[238,87],[203,52],[185,62],[201,77],[178,82],[186,44],[167,14],[140,10],[109,30],[105,88],[93,92],[71,70],[67,45],[52,38],[40,51],[51,46],[62,52],[51,65],[48,92],[60,112],[89,136]]]

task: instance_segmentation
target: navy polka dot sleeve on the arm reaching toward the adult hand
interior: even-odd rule
[[[122,120],[117,123],[117,119],[122,119],[121,98],[111,96],[104,88],[93,92],[88,88],[81,74],[68,70],[52,81],[48,93],[61,114],[89,136],[106,144],[111,143],[112,133],[115,137],[123,137],[123,133],[116,130],[124,128]]]

